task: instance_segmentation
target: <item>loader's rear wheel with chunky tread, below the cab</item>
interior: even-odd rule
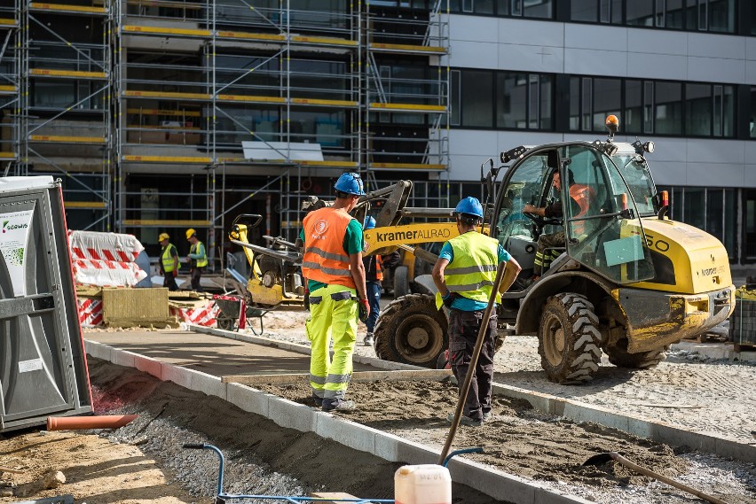
[[[540,365],[557,384],[591,380],[601,361],[601,333],[594,306],[584,296],[564,292],[548,298],[540,315]]]

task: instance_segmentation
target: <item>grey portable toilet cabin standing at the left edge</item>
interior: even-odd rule
[[[0,432],[92,411],[60,181],[0,177]]]

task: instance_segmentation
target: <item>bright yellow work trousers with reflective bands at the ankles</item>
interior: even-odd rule
[[[328,285],[310,292],[310,317],[304,322],[304,328],[312,344],[310,386],[313,397],[328,402],[344,398],[351,379],[357,322],[358,302],[354,289]],[[333,361],[328,351],[332,337]]]

